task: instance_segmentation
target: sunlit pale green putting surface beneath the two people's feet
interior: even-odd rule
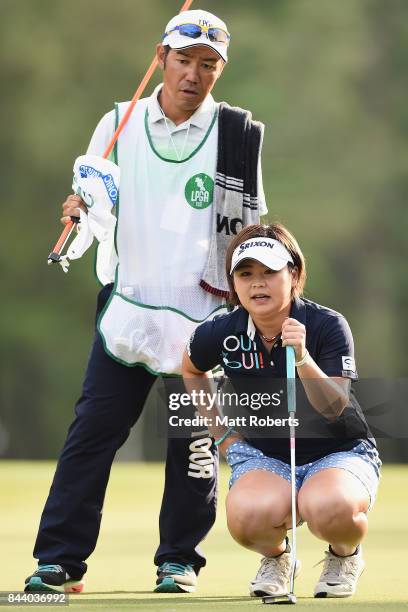
[[[161,464],[116,463],[107,493],[101,535],[89,559],[86,592],[72,596],[71,607],[82,610],[136,608],[149,612],[255,610],[258,599],[247,596],[258,555],[239,547],[229,536],[223,498],[228,472],[222,466],[221,499],[215,527],[204,543],[208,559],[193,595],[157,595],[153,553],[158,541],[157,517],[163,486]],[[35,567],[32,547],[40,513],[51,483],[54,463],[0,462],[1,504],[0,591],[22,589]],[[408,610],[408,466],[385,466],[378,502],[370,516],[364,545],[367,568],[352,599],[311,597],[321,566],[324,544],[307,527],[298,531],[302,572],[296,582],[298,608],[334,611]],[[27,606],[13,606],[13,609]],[[35,609],[43,609],[36,606]],[[262,606],[262,609],[263,606]]]

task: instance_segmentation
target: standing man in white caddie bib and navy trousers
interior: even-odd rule
[[[136,104],[115,147],[121,172],[115,252],[97,266],[105,285],[97,330],[41,517],[39,567],[26,590],[82,591],[115,453],[156,377],[180,372],[192,329],[223,308],[230,238],[267,212],[263,126],[211,95],[229,40],[225,23],[210,13],[174,17],[157,45],[163,83]],[[102,118],[88,154],[103,154],[128,104]],[[78,208],[86,210],[85,202],[69,196],[63,222]],[[195,590],[206,562],[199,543],[215,520],[216,478],[208,432],[169,439],[155,591]]]

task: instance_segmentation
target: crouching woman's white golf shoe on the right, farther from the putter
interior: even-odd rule
[[[357,582],[364,570],[361,546],[349,557],[337,557],[330,550],[325,552],[323,571],[315,586],[315,597],[350,597],[356,592]]]

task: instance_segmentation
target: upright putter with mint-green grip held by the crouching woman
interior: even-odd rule
[[[290,589],[286,595],[265,595],[262,597],[266,604],[295,604],[295,572],[296,572],[296,457],[295,457],[295,426],[293,419],[296,414],[296,370],[295,350],[293,346],[286,347],[286,378],[288,393],[288,412],[291,425],[289,425],[290,437],[290,485],[291,485],[291,509],[292,509],[292,571],[290,574]]]

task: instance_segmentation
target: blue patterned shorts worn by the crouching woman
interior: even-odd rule
[[[289,463],[268,457],[245,441],[234,442],[228,447],[227,463],[232,469],[230,487],[240,476],[252,470],[273,472],[290,482]],[[340,468],[353,474],[365,486],[370,497],[368,510],[371,510],[377,495],[380,467],[381,460],[377,449],[369,442],[363,441],[351,450],[330,453],[316,461],[296,466],[296,490],[299,491],[302,484],[320,470]]]

